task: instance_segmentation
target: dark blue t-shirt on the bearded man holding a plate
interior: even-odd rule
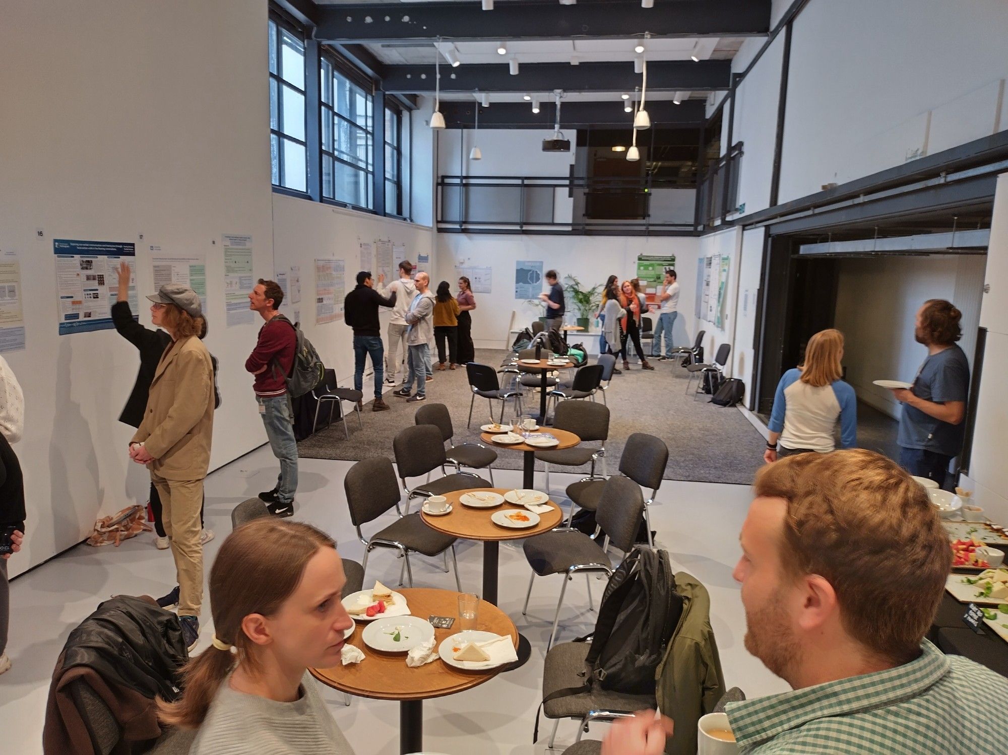
[[[914,396],[944,404],[965,402],[970,393],[970,362],[958,345],[930,354],[920,365],[913,387]],[[899,420],[898,443],[903,448],[919,448],[942,456],[958,456],[963,450],[963,426],[950,425],[924,414],[909,404],[903,405]]]

